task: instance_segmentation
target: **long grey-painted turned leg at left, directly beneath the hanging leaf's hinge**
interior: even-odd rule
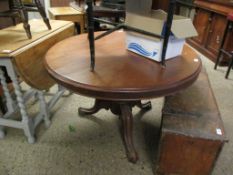
[[[9,61],[11,62],[11,60],[9,60]],[[24,134],[27,136],[29,143],[35,143],[33,120],[28,117],[26,107],[24,104],[24,100],[23,100],[23,94],[22,94],[21,88],[19,86],[18,78],[17,78],[17,75],[14,71],[14,67],[11,63],[9,63],[7,65],[7,72],[12,80],[12,83],[13,83],[13,86],[15,89],[16,99],[17,99],[18,106],[20,109],[20,114],[22,116],[22,123],[24,125],[24,127],[23,127]]]

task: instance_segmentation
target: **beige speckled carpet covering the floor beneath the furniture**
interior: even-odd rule
[[[225,80],[226,68],[213,70],[214,64],[202,56],[225,124],[228,139],[213,170],[213,175],[233,174],[233,71]],[[21,130],[7,128],[0,140],[0,175],[152,175],[163,98],[152,101],[153,109],[141,113],[134,108],[134,142],[140,160],[127,161],[119,133],[119,119],[101,110],[94,116],[78,116],[79,106],[93,100],[79,95],[63,97],[54,107],[52,125],[41,124],[37,142],[27,143]],[[37,105],[28,104],[29,113]],[[194,165],[195,166],[195,165]]]

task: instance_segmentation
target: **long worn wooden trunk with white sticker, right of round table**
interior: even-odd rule
[[[165,98],[162,117],[157,172],[210,174],[226,137],[205,72],[190,88]]]

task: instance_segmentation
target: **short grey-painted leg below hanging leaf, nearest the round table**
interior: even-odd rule
[[[38,97],[40,101],[40,112],[43,115],[43,119],[44,119],[46,127],[49,127],[51,125],[51,121],[49,119],[48,105],[46,104],[43,92],[37,91],[37,93],[38,93]]]

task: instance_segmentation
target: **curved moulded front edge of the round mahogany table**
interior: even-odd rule
[[[198,58],[200,59],[200,58]],[[96,98],[103,100],[120,100],[120,101],[132,101],[138,99],[152,99],[157,97],[162,97],[170,94],[174,94],[178,91],[181,91],[191,84],[193,84],[199,76],[199,73],[202,69],[202,62],[200,60],[200,65],[198,69],[189,77],[184,78],[183,80],[170,84],[161,86],[159,89],[154,88],[100,88],[96,86],[90,86],[86,84],[77,83],[73,80],[69,80],[57,74],[53,71],[44,59],[44,65],[51,77],[59,82],[62,86],[74,91],[77,94]]]

